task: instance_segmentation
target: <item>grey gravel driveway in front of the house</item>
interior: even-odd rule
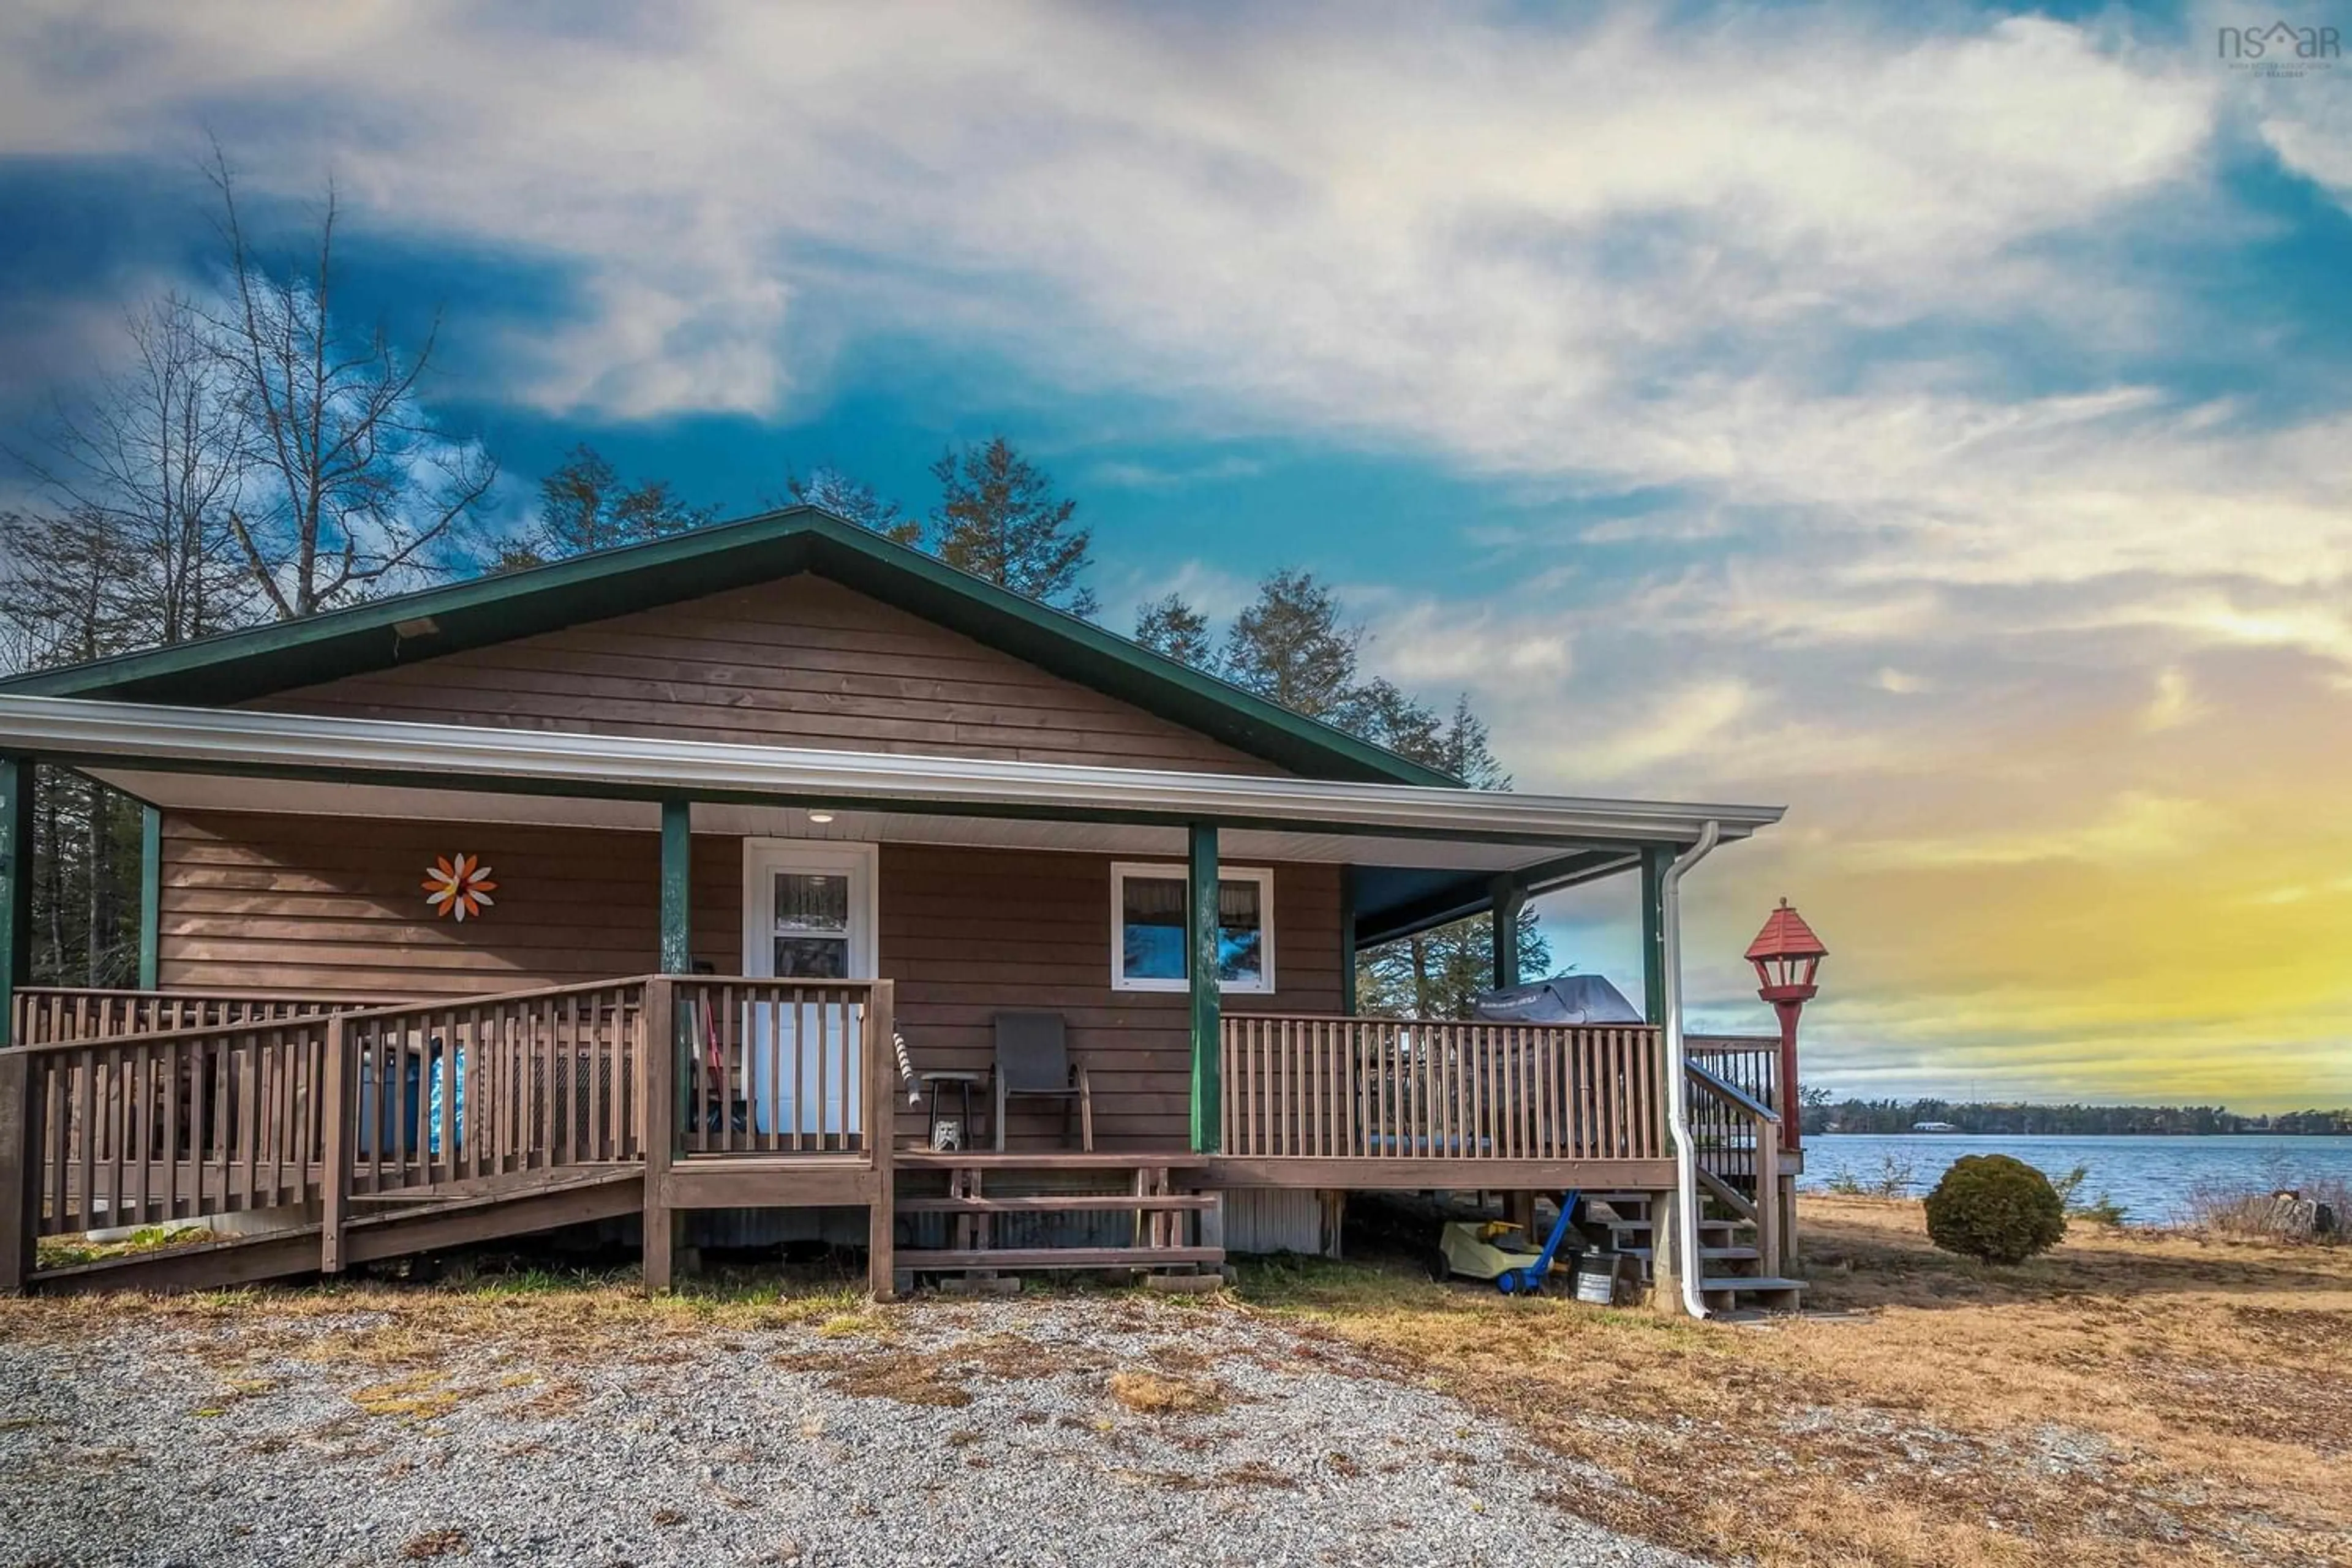
[[[1559,1462],[1510,1429],[1228,1307],[480,1319],[259,1298],[0,1345],[0,1559],[1691,1561],[1548,1502]]]

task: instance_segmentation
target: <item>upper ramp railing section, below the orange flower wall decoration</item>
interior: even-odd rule
[[[595,980],[336,1018],[350,1192],[642,1159],[644,985]]]

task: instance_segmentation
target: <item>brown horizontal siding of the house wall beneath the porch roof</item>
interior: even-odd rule
[[[167,813],[160,983],[360,997],[459,997],[656,969],[659,835],[468,823]],[[496,905],[433,919],[423,870],[480,853]],[[1087,1060],[1103,1147],[1181,1147],[1190,1126],[1183,992],[1110,987],[1110,858],[884,844],[880,973],[917,1067],[985,1067],[990,1020],[1058,1011]],[[1341,1009],[1338,867],[1275,867],[1275,980],[1235,1013]],[[741,839],[694,839],[694,957],[743,961]],[[922,1114],[901,1107],[901,1131]],[[1018,1114],[1016,1145],[1058,1121]]]

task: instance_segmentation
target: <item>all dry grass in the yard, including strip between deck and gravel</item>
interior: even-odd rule
[[[1435,1382],[1522,1429],[1538,1460],[1573,1455],[1613,1479],[1559,1467],[1559,1507],[1698,1556],[2352,1563],[2352,1246],[2077,1229],[2049,1258],[1990,1269],[1936,1253],[1917,1204],[1875,1199],[1809,1199],[1804,1237],[1813,1314],[1750,1326],[1503,1300],[1355,1262],[1263,1262],[1228,1298],[1103,1295],[1101,1309],[1272,1316],[1312,1359]],[[353,1309],[386,1316],[346,1328]],[[256,1359],[327,1356],[369,1371],[358,1420],[393,1420],[496,1392],[437,1375],[485,1338],[661,1363],[687,1338],[793,1324],[870,1352],[929,1309],[863,1305],[849,1284],[783,1295],[774,1279],[694,1284],[647,1300],[628,1276],[539,1274],[0,1300],[0,1333],[85,1335],[136,1312],[216,1319],[235,1326],[216,1340],[223,1401]],[[343,1321],[320,1335],[318,1319]],[[917,1403],[964,1403],[997,1359],[1035,1354],[1016,1342],[884,1361],[842,1349],[793,1363],[842,1385],[889,1378],[861,1392]],[[1096,1371],[1129,1408],[1221,1399],[1207,1359]],[[560,1380],[515,1392],[576,1401]],[[428,1549],[452,1547],[416,1554]]]

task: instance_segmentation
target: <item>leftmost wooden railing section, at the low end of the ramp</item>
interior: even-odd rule
[[[308,1013],[0,1053],[0,1112],[38,1150],[19,1213],[52,1237],[315,1199],[327,1034]]]

